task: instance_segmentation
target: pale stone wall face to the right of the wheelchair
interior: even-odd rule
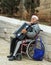
[[[44,58],[51,61],[51,34],[46,32],[40,33],[45,46],[45,56]]]

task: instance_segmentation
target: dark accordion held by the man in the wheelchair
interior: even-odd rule
[[[26,29],[27,31],[30,31],[30,32],[32,31],[31,25],[24,23],[16,32],[14,32],[18,40],[23,40],[25,38],[26,34],[21,33],[23,29]]]

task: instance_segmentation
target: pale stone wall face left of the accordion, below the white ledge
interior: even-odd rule
[[[0,21],[0,37],[9,40],[12,33],[18,27],[18,25],[13,25],[8,22]]]

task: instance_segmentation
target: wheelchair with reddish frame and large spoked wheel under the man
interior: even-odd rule
[[[23,43],[21,44],[21,54],[26,54],[29,59],[33,59],[34,48],[35,46],[37,46],[38,48],[41,48],[41,45],[40,45],[41,42],[43,43],[42,49],[45,50],[44,41],[42,40],[41,36],[38,36],[38,34],[36,35],[34,40],[32,40],[31,42],[26,43],[26,41],[23,40]]]

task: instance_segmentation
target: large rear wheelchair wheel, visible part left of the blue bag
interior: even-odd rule
[[[27,50],[26,50],[26,53],[27,53],[27,56],[29,59],[32,59],[32,56],[34,54],[34,46],[35,46],[35,40],[31,41],[28,46],[27,46]]]

